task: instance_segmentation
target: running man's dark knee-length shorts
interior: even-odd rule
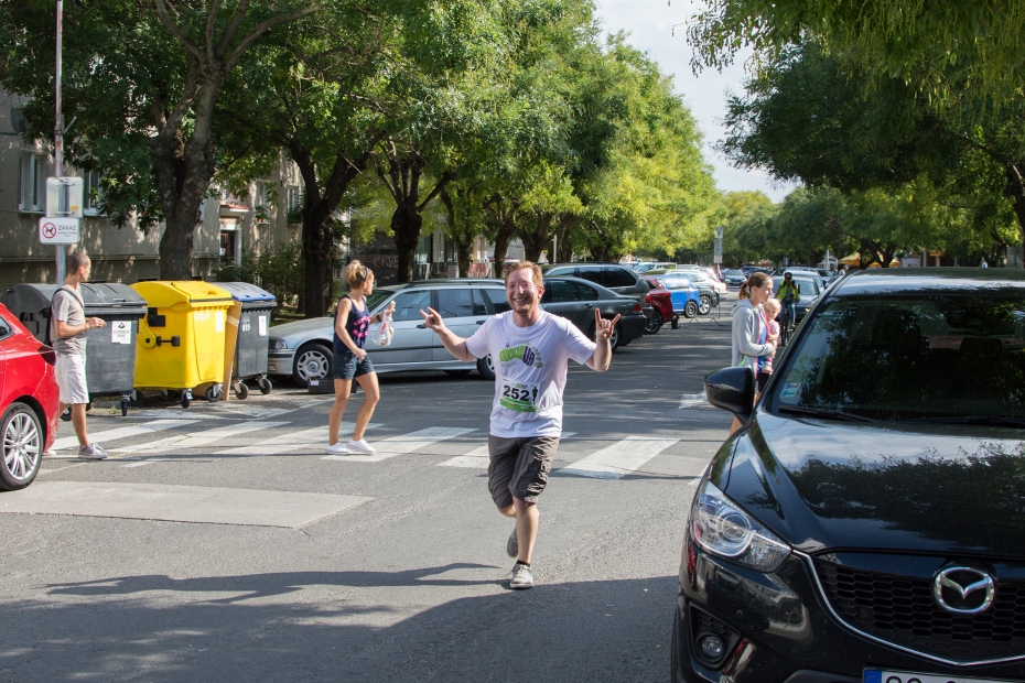
[[[487,488],[495,505],[508,508],[514,497],[537,502],[558,449],[558,436],[503,438],[488,434]]]

